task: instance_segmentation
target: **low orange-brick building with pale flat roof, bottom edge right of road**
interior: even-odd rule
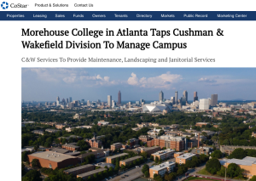
[[[154,174],[164,177],[166,173],[172,173],[175,168],[175,162],[166,161],[157,166],[149,167],[149,177],[154,178]]]

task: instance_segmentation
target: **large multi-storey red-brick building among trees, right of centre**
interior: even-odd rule
[[[148,147],[160,146],[161,149],[166,147],[166,149],[181,151],[187,150],[187,139],[185,137],[163,135],[157,139],[147,141],[147,145]]]

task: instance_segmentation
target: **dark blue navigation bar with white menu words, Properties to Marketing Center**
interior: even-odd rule
[[[256,11],[1,11],[0,20],[256,20]]]

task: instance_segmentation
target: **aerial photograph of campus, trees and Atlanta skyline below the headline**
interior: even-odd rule
[[[255,68],[22,68],[22,181],[256,181]]]

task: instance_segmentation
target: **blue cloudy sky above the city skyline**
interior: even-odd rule
[[[85,101],[158,100],[183,90],[189,100],[197,91],[199,99],[217,93],[218,100],[256,99],[255,68],[22,68],[21,99],[55,101],[56,97]]]

